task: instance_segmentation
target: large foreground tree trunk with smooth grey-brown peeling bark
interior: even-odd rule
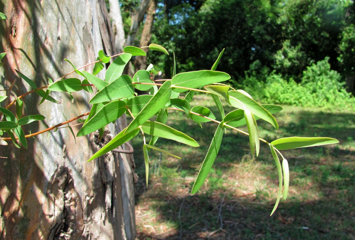
[[[1,5],[8,20],[0,21],[0,50],[7,52],[0,69],[0,87],[7,91],[0,94],[11,101],[31,90],[14,69],[39,87],[48,77],[72,71],[63,58],[80,67],[95,61],[101,49],[113,54],[104,0],[2,0]],[[51,96],[61,104],[38,105],[35,93],[23,97],[24,116],[44,115],[43,122],[53,126],[65,121],[63,115],[70,119],[90,110],[92,95],[86,92],[73,93],[74,104],[69,94]],[[30,123],[24,131],[38,132],[45,124]],[[122,118],[116,128],[125,125]],[[75,134],[80,129],[72,128]],[[116,132],[113,124],[107,130],[105,142]],[[135,239],[130,154],[110,152],[86,162],[104,143],[94,134],[75,140],[68,128],[27,140],[28,149],[0,145],[0,239]]]

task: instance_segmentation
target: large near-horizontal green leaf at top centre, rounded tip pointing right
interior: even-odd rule
[[[230,79],[230,76],[227,73],[202,70],[176,74],[173,79],[171,79],[171,85],[173,88],[175,87],[175,92],[183,93],[189,90],[184,88],[199,88],[201,86],[206,86],[207,84],[219,83],[228,79]]]

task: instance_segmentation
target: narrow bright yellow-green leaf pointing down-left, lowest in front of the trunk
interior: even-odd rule
[[[117,134],[111,141],[103,146],[102,149],[97,151],[91,158],[89,158],[88,162],[104,155],[111,150],[114,150],[118,146],[121,146],[122,144],[134,138],[139,132],[139,129],[135,129],[131,132],[126,132],[126,130],[127,128],[123,129],[119,134]]]

